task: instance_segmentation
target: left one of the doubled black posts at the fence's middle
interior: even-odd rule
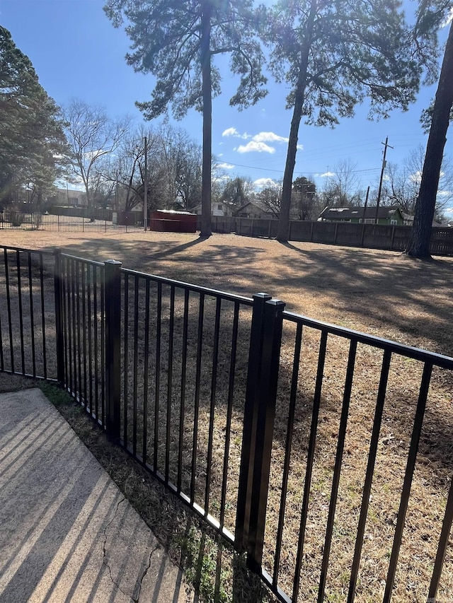
[[[248,522],[251,509],[251,486],[255,454],[256,421],[258,416],[258,383],[261,373],[263,349],[264,305],[271,299],[268,293],[253,295],[253,315],[248,350],[248,373],[246,401],[244,408],[241,468],[239,471],[239,491],[236,509],[234,546],[237,551],[246,549],[248,543]]]

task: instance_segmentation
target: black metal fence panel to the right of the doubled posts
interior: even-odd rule
[[[452,525],[452,467],[445,458],[439,484],[423,488],[432,479],[423,418],[428,411],[432,421],[439,397],[451,399],[452,369],[446,356],[282,313],[262,548],[248,542],[248,566],[280,600],[352,602],[372,590],[389,601],[409,596],[404,581],[435,597]],[[432,526],[429,540],[418,513]],[[382,534],[385,552],[373,550]],[[423,551],[422,575],[411,550]]]

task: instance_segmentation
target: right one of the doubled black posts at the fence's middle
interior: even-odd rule
[[[256,447],[248,526],[247,566],[260,573],[263,558],[266,507],[268,503],[270,458],[274,435],[278,369],[282,344],[282,312],[285,303],[270,300],[264,308],[263,348],[256,421]]]

